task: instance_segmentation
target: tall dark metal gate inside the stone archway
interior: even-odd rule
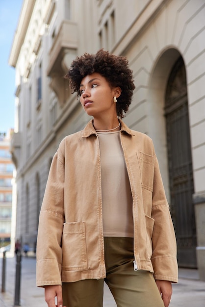
[[[171,214],[180,267],[196,267],[196,228],[186,72],[182,57],[173,66],[165,99]]]

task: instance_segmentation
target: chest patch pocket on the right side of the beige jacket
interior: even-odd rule
[[[142,152],[136,152],[139,161],[142,187],[153,191],[154,156]]]

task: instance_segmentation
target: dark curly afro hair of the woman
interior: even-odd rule
[[[77,92],[80,96],[79,86],[83,77],[99,73],[109,83],[110,87],[119,86],[122,90],[116,103],[117,115],[124,117],[128,111],[135,89],[132,71],[128,67],[128,60],[124,56],[110,54],[103,49],[96,54],[84,53],[71,63],[71,68],[65,75],[70,80],[72,93]]]

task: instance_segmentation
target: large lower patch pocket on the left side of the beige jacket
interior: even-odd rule
[[[62,269],[68,271],[86,270],[87,253],[85,222],[63,224]]]

